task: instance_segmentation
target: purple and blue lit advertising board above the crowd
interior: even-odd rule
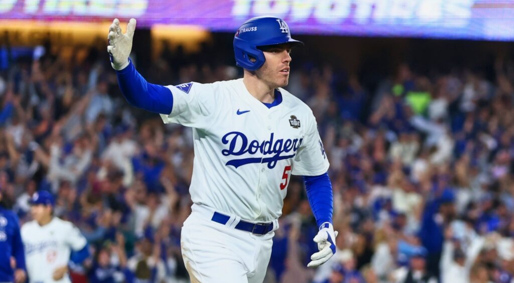
[[[296,33],[514,40],[514,0],[3,0],[0,20],[112,21],[200,25],[234,31],[259,15]]]

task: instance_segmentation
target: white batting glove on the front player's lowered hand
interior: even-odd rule
[[[337,234],[339,233],[334,232],[334,226],[331,223],[321,224],[318,235],[314,237],[314,241],[318,243],[319,252],[310,256],[311,261],[307,267],[320,266],[336,253]]]

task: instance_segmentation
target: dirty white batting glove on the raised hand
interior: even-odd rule
[[[122,70],[128,66],[128,56],[132,50],[132,38],[136,29],[136,19],[128,21],[126,33],[121,32],[120,20],[114,19],[109,27],[109,45],[107,52],[111,57],[111,65],[115,70]]]

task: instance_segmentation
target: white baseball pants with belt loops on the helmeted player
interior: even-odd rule
[[[230,216],[224,225],[212,221],[213,214],[213,209],[193,204],[192,213],[182,226],[180,245],[191,281],[262,283],[274,232],[253,235],[234,228],[240,218]],[[273,224],[274,231],[278,221]]]

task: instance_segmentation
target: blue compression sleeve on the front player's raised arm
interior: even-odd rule
[[[147,82],[128,59],[128,66],[116,71],[121,93],[134,107],[155,113],[170,114],[173,95],[168,87]]]

